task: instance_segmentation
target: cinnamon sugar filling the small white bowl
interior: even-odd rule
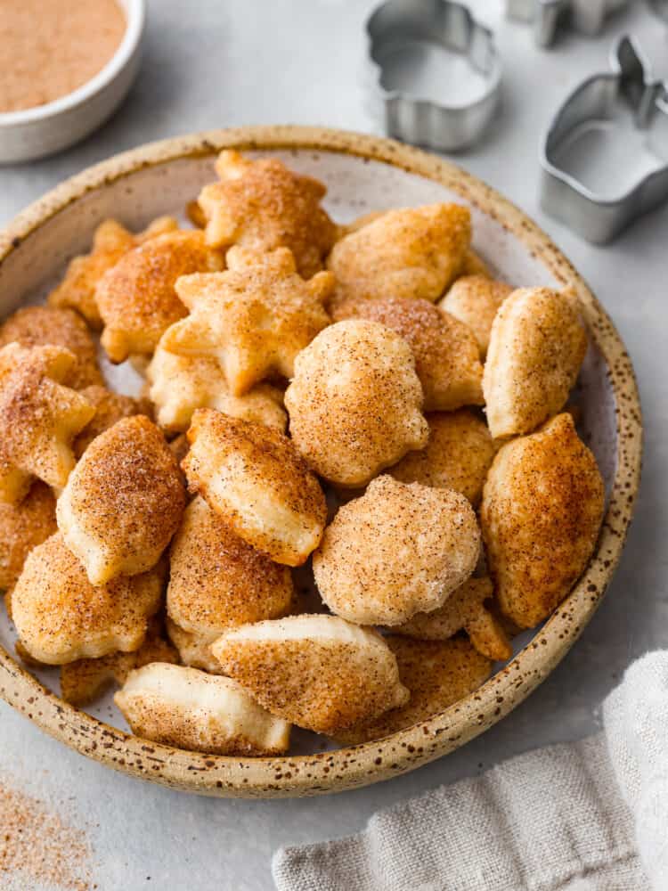
[[[34,108],[76,90],[110,61],[125,30],[116,0],[3,0],[0,112]]]

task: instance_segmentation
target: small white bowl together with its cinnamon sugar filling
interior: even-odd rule
[[[109,118],[139,68],[145,18],[146,0],[10,0],[0,12],[0,163],[53,154]]]

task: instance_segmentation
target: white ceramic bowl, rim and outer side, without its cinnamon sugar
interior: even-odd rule
[[[146,0],[117,0],[126,32],[110,61],[72,93],[36,108],[0,113],[0,163],[43,158],[77,143],[110,117],[132,86],[146,21]]]

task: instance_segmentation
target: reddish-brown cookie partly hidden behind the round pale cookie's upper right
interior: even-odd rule
[[[467,326],[428,300],[384,297],[349,299],[332,310],[341,319],[369,319],[396,331],[411,347],[427,412],[483,405],[483,366]]]

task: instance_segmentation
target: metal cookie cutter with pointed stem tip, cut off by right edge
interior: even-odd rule
[[[630,37],[615,44],[611,67],[611,72],[585,80],[566,99],[545,136],[541,158],[542,207],[597,244],[611,241],[631,220],[668,199],[668,87],[651,78]],[[608,198],[567,173],[558,153],[587,123],[613,119],[620,104],[642,131],[642,148],[652,163],[631,189]],[[610,179],[614,182],[614,174]]]

